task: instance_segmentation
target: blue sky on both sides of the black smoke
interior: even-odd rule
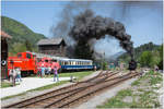
[[[14,19],[35,33],[51,35],[50,27],[60,21],[69,2],[59,1],[2,1],[2,15]],[[125,8],[126,7],[126,8]],[[134,47],[153,41],[162,44],[162,2],[94,2],[91,9],[97,15],[113,17],[125,24]]]

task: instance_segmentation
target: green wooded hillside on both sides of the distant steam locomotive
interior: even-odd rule
[[[141,45],[140,47],[134,48],[134,60],[144,66],[153,66],[160,64],[159,62],[163,60],[161,55],[162,45],[154,45],[153,43]],[[128,63],[130,61],[130,56],[124,53],[117,59],[118,61]]]

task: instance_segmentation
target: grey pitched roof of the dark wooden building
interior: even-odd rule
[[[65,43],[63,38],[40,39],[37,45],[60,45],[62,41]]]

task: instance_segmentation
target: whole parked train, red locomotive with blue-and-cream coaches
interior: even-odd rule
[[[9,70],[13,68],[21,68],[22,73],[36,74],[39,68],[49,68],[52,64],[58,64],[60,71],[93,69],[92,60],[69,59],[26,51],[19,52],[16,57],[8,58],[8,75]]]

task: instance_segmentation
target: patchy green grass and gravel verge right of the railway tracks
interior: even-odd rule
[[[129,88],[120,90],[105,104],[97,106],[97,108],[159,108],[159,94],[154,92],[154,89],[157,88],[154,88],[152,85],[162,84],[162,74],[150,71],[131,84],[131,89],[133,86],[138,87],[136,90],[130,90]],[[150,89],[147,89],[148,86]],[[134,92],[142,93],[140,95],[136,95]],[[132,102],[125,102],[122,99],[126,96],[131,96]],[[137,97],[138,100],[134,100]]]

